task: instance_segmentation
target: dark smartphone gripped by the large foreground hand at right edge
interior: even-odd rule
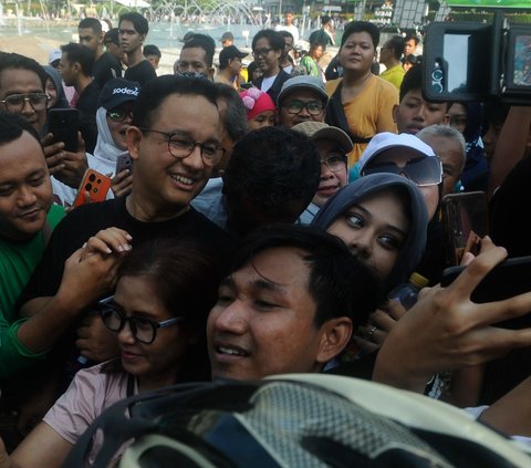
[[[440,284],[442,287],[451,284],[465,268],[445,269]],[[470,299],[476,303],[494,302],[529,291],[531,291],[531,256],[514,257],[496,266],[476,287]],[[512,330],[531,327],[531,313],[497,323],[496,326]]]

